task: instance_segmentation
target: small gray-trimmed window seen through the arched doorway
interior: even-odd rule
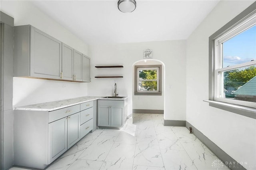
[[[162,95],[161,65],[134,66],[134,68],[135,95]]]

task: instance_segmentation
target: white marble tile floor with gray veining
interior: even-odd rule
[[[164,126],[163,114],[133,116],[87,134],[46,170],[228,170],[187,128]]]

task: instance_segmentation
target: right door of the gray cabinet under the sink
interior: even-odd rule
[[[123,112],[124,108],[120,106],[111,106],[111,127],[123,126]]]

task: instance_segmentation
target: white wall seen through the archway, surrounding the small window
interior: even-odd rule
[[[138,65],[162,65],[157,60],[142,60],[134,63],[132,67],[132,109],[164,110],[164,66],[162,65],[162,96],[138,96],[134,95],[134,66]]]

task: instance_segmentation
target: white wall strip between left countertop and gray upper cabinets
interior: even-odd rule
[[[13,78],[13,105],[24,106],[87,96],[87,83]]]

